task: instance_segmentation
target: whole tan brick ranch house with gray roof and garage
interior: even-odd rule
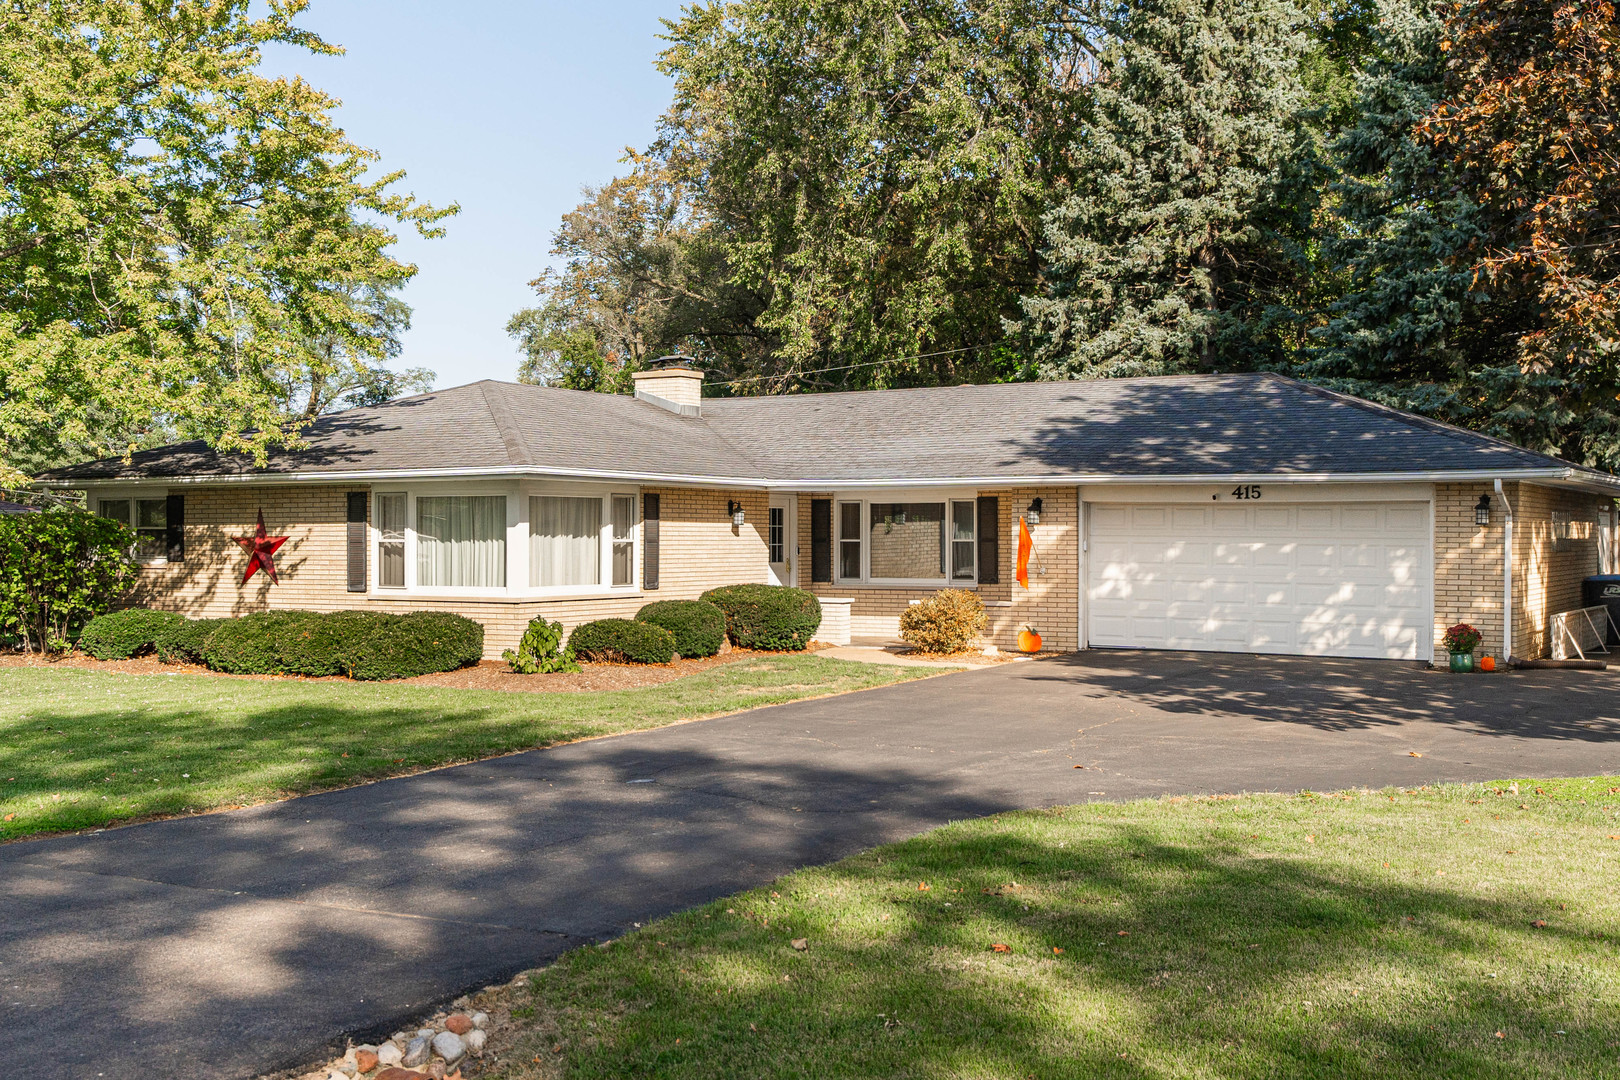
[[[833,601],[825,638],[893,636],[957,586],[1000,648],[1032,625],[1058,649],[1427,661],[1466,620],[1536,657],[1614,562],[1615,476],[1277,376],[757,398],[703,398],[682,364],[635,381],[356,408],[264,468],[180,444],[44,479],[139,533],[139,602],[444,609],[484,623],[489,656],[536,615],[572,630],[766,581]],[[259,512],[290,538],[279,586],[241,581],[232,538]]]

